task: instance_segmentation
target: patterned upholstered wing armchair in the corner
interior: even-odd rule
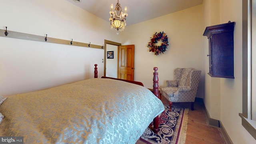
[[[174,69],[174,80],[167,80],[167,86],[159,87],[161,96],[169,100],[170,108],[173,102],[191,102],[191,110],[194,110],[200,74],[201,70],[194,68]]]

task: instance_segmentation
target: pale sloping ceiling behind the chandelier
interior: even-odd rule
[[[110,18],[110,5],[113,4],[115,8],[117,2],[117,0],[67,1],[106,21]],[[123,10],[127,7],[127,26],[197,6],[202,2],[203,0],[119,0]]]

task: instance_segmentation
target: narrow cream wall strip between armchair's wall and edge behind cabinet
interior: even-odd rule
[[[204,30],[206,26],[220,24],[220,0],[204,0]],[[204,36],[204,56],[209,54],[209,40]],[[204,103],[211,118],[220,120],[220,78],[212,78],[209,72],[209,57],[204,57],[205,97]]]

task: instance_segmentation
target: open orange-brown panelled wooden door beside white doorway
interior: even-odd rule
[[[134,45],[119,46],[118,78],[134,80]]]

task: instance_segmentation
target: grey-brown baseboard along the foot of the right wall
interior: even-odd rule
[[[203,106],[203,111],[206,117],[206,122],[209,126],[213,126],[219,129],[220,134],[225,142],[225,144],[233,144],[232,140],[230,139],[230,137],[228,136],[228,133],[226,132],[223,124],[221,123],[220,120],[215,120],[213,118],[210,118],[210,115],[208,113],[208,111],[205,108],[205,105]]]

